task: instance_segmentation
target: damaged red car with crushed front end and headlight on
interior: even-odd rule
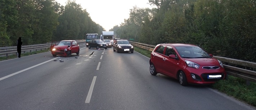
[[[54,57],[57,55],[69,57],[72,53],[79,55],[80,48],[76,40],[62,40],[57,45],[56,42],[55,44],[52,42],[50,50]]]

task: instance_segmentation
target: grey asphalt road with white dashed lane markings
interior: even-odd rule
[[[137,52],[84,45],[79,56],[0,62],[0,97],[0,110],[256,110],[208,86],[152,76],[149,58]]]

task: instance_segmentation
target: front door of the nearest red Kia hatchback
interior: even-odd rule
[[[169,55],[174,54],[177,56],[175,50],[171,46],[167,46],[164,51],[164,58],[163,58],[163,72],[169,76],[175,77],[176,76],[176,68],[177,68],[177,59],[169,58]]]

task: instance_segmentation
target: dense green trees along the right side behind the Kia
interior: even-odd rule
[[[214,56],[256,62],[255,0],[149,0],[113,29],[120,38],[156,45],[191,43]]]

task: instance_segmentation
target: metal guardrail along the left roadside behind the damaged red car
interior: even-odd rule
[[[76,41],[78,43],[85,43],[85,40],[76,40]],[[32,51],[37,51],[37,50],[49,49],[51,44],[52,44],[52,42],[47,42],[46,44],[36,44],[36,45],[22,46],[21,47],[21,52],[26,53],[26,52],[32,52]],[[12,54],[16,54],[16,55],[18,54],[17,46],[0,47],[0,56],[8,57],[9,55],[12,55]]]

